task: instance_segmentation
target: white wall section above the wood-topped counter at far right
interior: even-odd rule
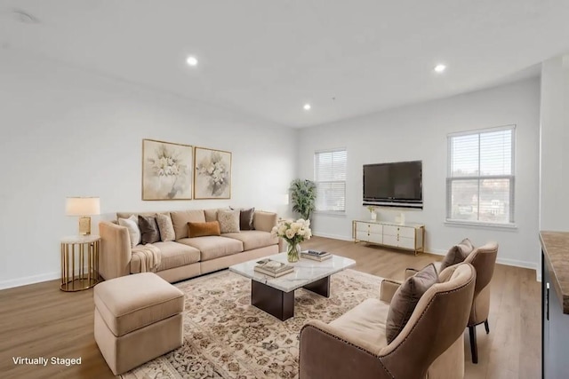
[[[540,229],[569,231],[569,54],[541,65]]]

